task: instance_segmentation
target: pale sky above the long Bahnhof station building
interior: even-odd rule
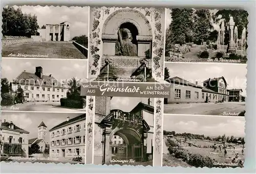
[[[246,64],[237,63],[165,63],[170,77],[178,76],[187,81],[203,86],[203,81],[209,78],[224,77],[227,89],[242,89],[246,96]]]

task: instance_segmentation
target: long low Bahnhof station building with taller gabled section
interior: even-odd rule
[[[203,82],[191,83],[180,77],[173,77],[168,80],[170,83],[170,97],[164,99],[168,103],[208,103],[229,101],[229,91],[224,77],[209,78]]]

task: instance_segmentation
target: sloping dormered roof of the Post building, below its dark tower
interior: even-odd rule
[[[29,82],[26,82],[26,79],[28,79]],[[39,82],[36,83],[36,80]],[[55,79],[53,76],[42,75],[42,78],[40,79],[34,73],[29,73],[26,71],[20,73],[12,83],[66,89],[65,86],[63,86],[62,83]]]

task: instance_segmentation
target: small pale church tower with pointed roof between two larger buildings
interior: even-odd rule
[[[37,127],[37,138],[29,139],[29,146],[31,147],[32,144],[36,143],[40,147],[39,150],[43,153],[48,148],[47,136],[49,136],[47,134],[47,126],[42,121]]]

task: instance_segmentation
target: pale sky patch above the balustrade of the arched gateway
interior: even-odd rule
[[[139,102],[146,100],[147,98],[142,99],[136,97],[113,97],[111,99],[111,110],[122,110],[123,112],[130,112],[135,106],[137,106]]]

